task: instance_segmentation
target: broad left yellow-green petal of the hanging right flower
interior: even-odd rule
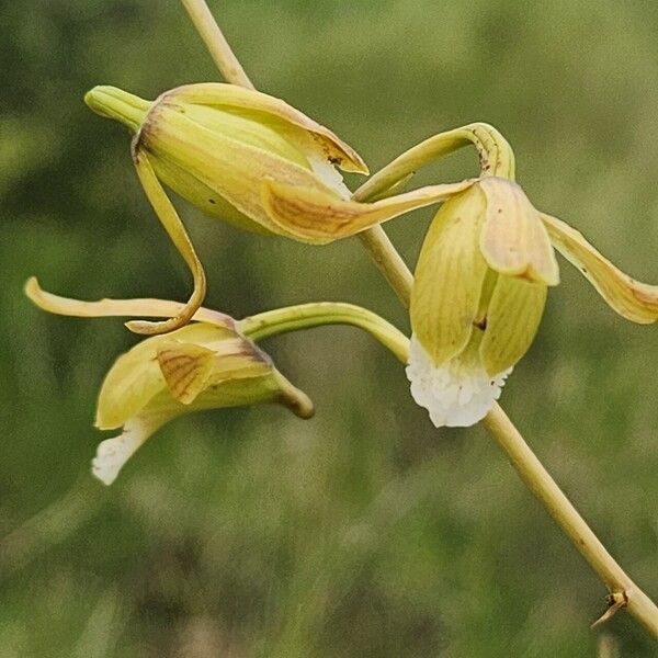
[[[461,352],[478,315],[487,263],[479,248],[485,195],[477,186],[447,201],[422,245],[411,291],[411,328],[432,362]]]

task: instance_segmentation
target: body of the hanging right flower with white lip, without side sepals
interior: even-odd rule
[[[485,417],[557,282],[548,234],[514,182],[485,178],[441,207],[416,266],[407,367],[436,427]]]

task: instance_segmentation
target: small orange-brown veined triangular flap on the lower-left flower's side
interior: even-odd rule
[[[215,352],[194,343],[164,341],[157,355],[171,395],[183,405],[193,402],[206,386]]]

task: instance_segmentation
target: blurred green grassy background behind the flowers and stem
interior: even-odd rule
[[[481,120],[533,202],[656,281],[658,3],[211,2],[246,69],[376,170]],[[404,372],[350,328],[271,339],[315,400],[178,420],[110,489],[89,462],[95,396],[135,342],[47,316],[37,274],[80,298],[183,299],[188,273],[137,183],[128,137],[87,110],[217,79],[178,2],[0,2],[0,655],[598,656],[605,590],[478,428],[435,431]],[[472,152],[417,183],[476,172]],[[355,184],[355,180],[350,180]],[[208,305],[236,317],[362,304],[407,329],[356,240],[311,249],[180,203]],[[389,225],[413,262],[432,211]],[[502,402],[613,555],[658,597],[658,333],[563,268]],[[625,614],[623,656],[656,656]]]

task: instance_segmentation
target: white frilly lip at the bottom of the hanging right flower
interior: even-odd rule
[[[416,402],[430,412],[435,427],[467,428],[479,422],[500,397],[512,368],[490,377],[481,363],[454,356],[436,367],[415,336],[409,347],[407,378]]]

